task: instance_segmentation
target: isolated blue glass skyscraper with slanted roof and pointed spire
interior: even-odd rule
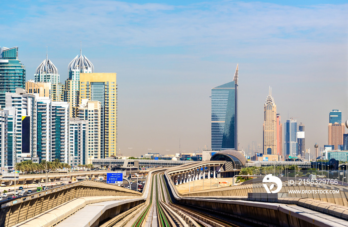
[[[211,89],[211,149],[238,150],[238,64],[233,81]]]

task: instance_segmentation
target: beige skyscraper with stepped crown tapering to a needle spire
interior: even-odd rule
[[[263,109],[263,153],[277,154],[277,127],[280,126],[277,126],[277,106],[272,97],[272,89],[270,87]]]

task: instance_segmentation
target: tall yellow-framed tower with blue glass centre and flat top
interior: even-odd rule
[[[100,102],[101,158],[117,153],[117,84],[115,73],[80,74],[80,99]]]

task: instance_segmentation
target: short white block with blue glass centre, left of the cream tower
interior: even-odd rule
[[[73,167],[79,164],[86,165],[88,121],[70,118],[69,124],[69,164]]]

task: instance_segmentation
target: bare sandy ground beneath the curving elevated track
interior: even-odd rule
[[[221,187],[229,187],[232,185],[233,178],[210,178],[210,179],[201,179],[191,181],[190,183],[184,183],[176,185],[176,189],[179,193],[193,192],[193,191],[202,191],[208,189],[215,189]],[[204,182],[204,186],[203,186]],[[190,187],[190,189],[189,189]]]

